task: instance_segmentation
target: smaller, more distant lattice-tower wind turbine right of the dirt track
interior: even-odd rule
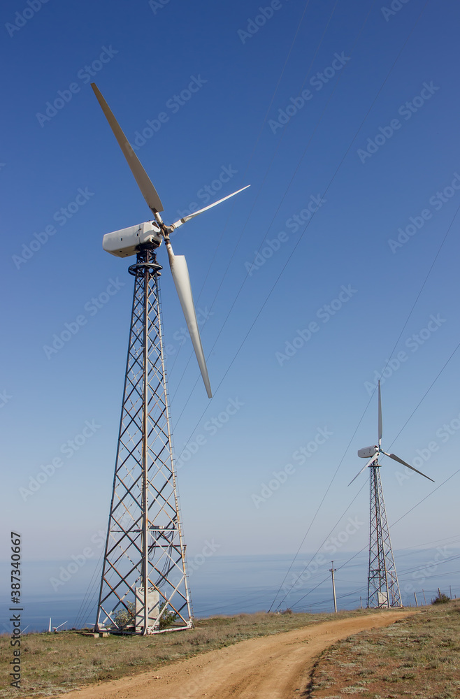
[[[348,484],[352,484],[366,468],[371,469],[371,517],[369,520],[369,573],[368,573],[368,607],[402,607],[398,575],[394,564],[393,549],[389,535],[387,512],[383,499],[382,481],[380,480],[379,456],[384,454],[390,459],[402,463],[415,473],[433,479],[417,470],[410,463],[403,461],[396,454],[388,454],[382,449],[382,398],[380,381],[378,382],[378,444],[359,449],[358,456],[368,459],[359,473]]]

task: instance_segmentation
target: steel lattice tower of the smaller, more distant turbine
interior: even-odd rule
[[[371,469],[368,607],[402,607],[378,459]]]

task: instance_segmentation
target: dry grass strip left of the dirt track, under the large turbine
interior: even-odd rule
[[[366,614],[340,612],[341,618]],[[166,663],[256,636],[301,628],[334,619],[334,614],[239,614],[199,619],[196,628],[152,636],[93,638],[79,633],[34,633],[22,640],[21,689],[9,686],[13,658],[10,637],[0,637],[3,686],[0,697],[59,694],[85,684],[155,670]],[[69,679],[70,678],[70,679]]]

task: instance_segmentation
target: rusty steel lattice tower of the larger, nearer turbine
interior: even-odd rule
[[[157,633],[192,626],[161,336],[154,245],[140,246],[113,494],[95,630]]]

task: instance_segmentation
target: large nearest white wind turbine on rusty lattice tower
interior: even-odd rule
[[[192,626],[166,386],[159,297],[162,267],[156,251],[164,241],[201,376],[211,398],[187,262],[173,253],[170,235],[246,187],[166,226],[157,190],[94,83],[92,89],[154,218],[107,233],[102,241],[103,249],[116,257],[136,255],[136,264],[129,267],[135,278],[134,298],[94,630],[147,635],[165,630],[161,627],[168,627],[171,618],[175,618],[174,626],[169,626],[173,630]]]

